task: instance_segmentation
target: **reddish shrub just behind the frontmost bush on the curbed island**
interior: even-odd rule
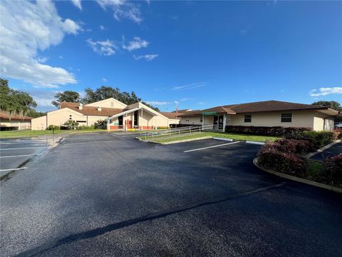
[[[274,148],[286,153],[304,154],[311,151],[309,140],[278,139],[274,141]]]

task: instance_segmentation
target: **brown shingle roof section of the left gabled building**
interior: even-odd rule
[[[89,115],[89,116],[113,116],[115,114],[120,114],[120,112],[123,112],[123,109],[116,109],[116,108],[107,108],[107,107],[101,107],[101,111],[98,111],[98,107],[96,106],[85,106],[83,105],[83,109],[79,109],[80,104],[78,103],[68,103],[68,102],[62,102],[60,109],[68,108],[73,111],[77,111],[83,115]]]

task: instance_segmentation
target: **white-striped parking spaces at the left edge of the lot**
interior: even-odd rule
[[[0,176],[24,168],[24,163],[40,155],[48,147],[46,140],[4,139],[0,141]]]

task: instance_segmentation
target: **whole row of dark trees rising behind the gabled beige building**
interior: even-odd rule
[[[113,97],[113,99],[116,99],[127,105],[142,102],[142,104],[149,106],[155,111],[159,111],[159,109],[157,109],[156,107],[150,106],[149,104],[146,104],[144,101],[142,101],[142,99],[140,99],[133,91],[122,92],[118,88],[113,88],[111,86],[101,86],[100,88],[95,90],[86,88],[85,92],[86,95],[83,98],[81,98],[80,94],[78,94],[78,92],[76,91],[58,92],[55,95],[56,100],[52,101],[51,104],[53,104],[56,107],[58,107],[59,104],[61,104],[61,102],[63,101],[90,104],[96,101],[101,101]]]

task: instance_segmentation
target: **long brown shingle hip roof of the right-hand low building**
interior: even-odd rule
[[[180,116],[194,116],[200,115],[204,112],[214,112],[217,114],[244,114],[263,111],[298,111],[298,110],[318,110],[328,109],[324,106],[316,106],[313,104],[296,104],[284,101],[259,101],[246,104],[230,104],[226,106],[216,106],[209,109],[188,111],[186,114],[180,114]]]

